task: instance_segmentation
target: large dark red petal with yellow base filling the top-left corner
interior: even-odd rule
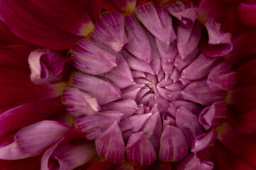
[[[59,0],[27,3],[4,1],[1,2],[0,16],[4,23],[23,40],[42,47],[63,50],[73,46],[80,39],[78,35],[81,33],[82,35],[90,33],[93,25],[86,11],[83,11],[78,4],[70,1],[62,2],[61,6],[59,4]],[[54,12],[50,11],[48,6],[55,8]]]

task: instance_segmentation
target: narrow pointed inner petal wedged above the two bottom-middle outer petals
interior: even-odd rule
[[[157,105],[155,106],[157,110]],[[151,110],[151,113],[153,113],[152,110]],[[155,151],[159,151],[159,147],[160,147],[159,139],[161,137],[162,131],[163,129],[162,129],[162,123],[161,123],[161,116],[159,112],[156,112],[153,115],[151,115],[150,118],[146,120],[146,123],[144,123],[142,127],[142,132],[144,133],[144,135],[146,135],[147,138],[149,138]]]

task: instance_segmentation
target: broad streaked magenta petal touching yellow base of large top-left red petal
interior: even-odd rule
[[[124,31],[124,16],[115,11],[100,16],[92,38],[109,45],[115,52],[122,52],[128,42]]]

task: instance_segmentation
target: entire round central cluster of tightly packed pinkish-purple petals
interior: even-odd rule
[[[181,2],[139,6],[125,17],[109,12],[90,40],[73,47],[80,71],[63,103],[101,157],[178,162],[213,142],[227,110],[225,91],[235,84],[222,57],[233,46],[218,23],[203,27],[197,16],[193,4]]]

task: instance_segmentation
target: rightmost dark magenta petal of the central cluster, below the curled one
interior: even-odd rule
[[[213,90],[228,90],[236,84],[235,72],[231,70],[229,62],[221,62],[208,75],[207,85]]]

